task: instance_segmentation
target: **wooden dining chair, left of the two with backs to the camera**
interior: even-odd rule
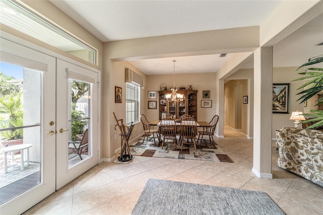
[[[174,144],[175,144],[175,149],[177,149],[176,144],[177,144],[177,139],[176,139],[176,122],[175,119],[172,117],[164,117],[160,121],[160,132],[163,135],[163,143],[161,144],[161,149],[164,147],[165,143],[165,137],[172,137]]]

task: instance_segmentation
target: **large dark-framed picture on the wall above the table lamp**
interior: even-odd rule
[[[273,113],[289,114],[289,83],[273,84]]]

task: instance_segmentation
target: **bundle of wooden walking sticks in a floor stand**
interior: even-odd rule
[[[130,125],[130,128],[126,125],[123,124],[123,119],[120,119],[118,120],[117,117],[116,117],[116,114],[115,112],[113,113],[113,115],[115,116],[115,120],[117,122],[117,125],[115,126],[115,130],[116,127],[118,126],[119,129],[120,129],[120,136],[121,136],[121,153],[120,153],[120,156],[118,156],[118,160],[121,161],[121,162],[128,162],[129,160],[131,160],[133,158],[133,156],[131,155],[131,152],[130,152],[130,147],[129,147],[129,137],[132,133],[132,130],[133,130],[133,123],[131,122],[131,125]],[[128,129],[128,132],[127,132],[127,129]]]

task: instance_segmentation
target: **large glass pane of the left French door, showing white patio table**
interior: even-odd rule
[[[4,62],[0,66],[0,192],[3,194],[0,199],[3,204],[42,182],[43,72]],[[23,153],[15,150],[17,147]]]

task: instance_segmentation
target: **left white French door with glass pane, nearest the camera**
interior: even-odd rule
[[[24,169],[10,167],[7,173],[0,170],[4,176],[1,183],[12,179],[0,188],[2,195],[11,195],[1,204],[0,211],[2,214],[20,214],[55,192],[56,110],[53,107],[56,99],[53,98],[56,85],[53,80],[56,80],[56,59],[3,38],[0,43],[1,71],[6,71],[7,77],[14,77],[0,86],[4,102],[0,112],[0,139],[19,138],[19,145],[31,145],[28,166],[25,163]],[[4,109],[6,103],[14,104],[16,110],[13,111],[10,105]],[[6,143],[1,147],[11,146]],[[23,153],[27,157],[26,150]],[[22,154],[14,155],[14,159],[22,157]],[[12,166],[14,161],[8,160]]]

